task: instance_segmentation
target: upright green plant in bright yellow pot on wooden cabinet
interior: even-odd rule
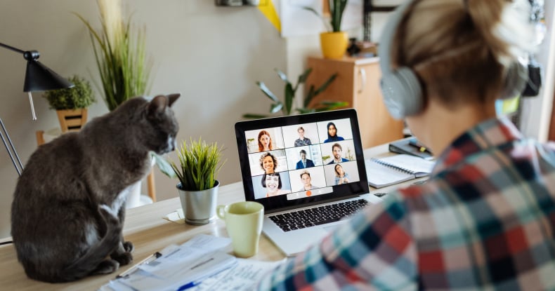
[[[328,31],[320,34],[320,47],[324,57],[337,59],[345,55],[348,46],[348,35],[346,32],[341,32],[341,19],[347,6],[347,0],[328,0],[327,5],[329,7],[329,24],[324,21],[324,25]],[[314,8],[304,8],[324,20]]]

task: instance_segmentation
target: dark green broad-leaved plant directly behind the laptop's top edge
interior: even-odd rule
[[[275,72],[278,72],[278,76],[280,76],[280,79],[285,81],[285,103],[280,101],[278,97],[276,97],[276,95],[272,93],[272,91],[266,86],[264,82],[257,81],[256,86],[259,86],[262,93],[264,93],[264,95],[266,95],[268,98],[270,98],[270,100],[273,101],[273,104],[271,104],[270,106],[270,114],[275,114],[278,111],[281,111],[283,115],[291,115],[292,112],[294,112],[293,101],[294,101],[296,90],[299,88],[299,85],[301,85],[301,83],[304,83],[306,79],[308,79],[308,75],[311,74],[312,68],[306,69],[306,71],[303,72],[301,76],[299,76],[299,79],[295,85],[293,85],[291,81],[289,81],[289,79],[287,78],[287,75],[285,75],[279,69],[275,69]],[[308,90],[306,90],[306,96],[304,97],[304,100],[303,100],[303,107],[296,108],[295,111],[299,114],[304,114],[304,113],[315,112],[315,111],[333,110],[339,107],[348,106],[347,102],[322,101],[318,103],[315,108],[308,108],[308,104],[311,103],[314,97],[316,97],[318,94],[326,90],[327,86],[329,86],[329,84],[331,84],[336,77],[337,77],[337,73],[332,74],[332,76],[329,76],[329,79],[327,79],[322,84],[322,86],[320,86],[318,89],[315,89],[314,85],[311,85],[311,87],[308,88]],[[261,118],[268,117],[268,115],[249,113],[249,114],[243,114],[243,117],[246,119],[261,119]]]

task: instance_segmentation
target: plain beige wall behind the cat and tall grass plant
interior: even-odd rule
[[[181,126],[178,140],[202,137],[226,147],[223,184],[240,181],[233,124],[249,112],[266,112],[268,102],[255,85],[272,88],[282,81],[273,68],[287,69],[287,43],[256,7],[216,7],[211,0],[133,0],[133,23],[147,25],[152,55],[151,95],[180,92],[174,105]],[[77,12],[99,27],[96,1],[3,0],[0,42],[38,50],[40,61],[62,76],[81,74],[98,82],[89,34],[72,15]],[[31,121],[27,93],[22,92],[25,60],[0,48],[0,117],[22,162],[37,148],[36,130],[58,126],[55,111],[34,94],[38,121]],[[97,91],[98,92],[98,91]],[[107,112],[99,101],[89,116]],[[99,145],[101,146],[101,145]],[[176,180],[155,170],[159,200],[177,196]],[[4,148],[0,149],[0,238],[10,235],[10,207],[18,178]],[[37,182],[48,180],[48,173]],[[176,208],[178,205],[176,205]]]

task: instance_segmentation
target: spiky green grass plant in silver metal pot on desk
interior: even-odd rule
[[[216,143],[191,139],[177,150],[179,165],[169,162],[179,180],[176,187],[188,224],[207,224],[216,215],[220,184],[216,177],[225,163],[221,161],[222,151]]]

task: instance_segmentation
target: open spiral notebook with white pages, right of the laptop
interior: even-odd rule
[[[408,154],[365,159],[368,184],[381,188],[430,175],[433,161]]]

